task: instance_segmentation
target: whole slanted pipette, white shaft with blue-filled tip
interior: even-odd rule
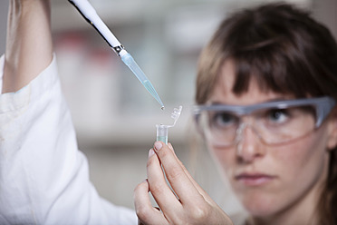
[[[111,46],[113,51],[120,56],[123,63],[136,75],[140,80],[140,83],[142,83],[149,93],[157,100],[163,110],[164,104],[161,102],[159,94],[154,89],[152,83],[149,82],[148,77],[140,69],[140,66],[135,62],[133,57],[124,49],[124,46],[120,44],[115,35],[111,33],[108,26],[104,24],[92,5],[87,0],[69,0],[69,2],[74,5],[85,20],[91,24],[99,34],[101,34],[101,37]]]

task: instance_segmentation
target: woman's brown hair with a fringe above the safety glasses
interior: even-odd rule
[[[337,44],[323,24],[293,5],[260,5],[220,24],[199,58],[197,104],[207,102],[229,58],[236,64],[233,93],[245,93],[255,79],[261,90],[296,98],[329,95],[337,101]],[[320,224],[337,224],[336,161],[334,149],[317,206]]]

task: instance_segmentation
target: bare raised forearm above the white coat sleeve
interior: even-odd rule
[[[51,63],[50,0],[10,0],[2,93],[30,83]]]

